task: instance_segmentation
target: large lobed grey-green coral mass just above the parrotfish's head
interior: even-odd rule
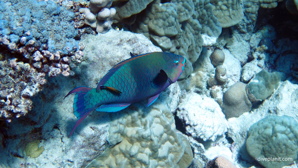
[[[203,45],[201,33],[218,36],[221,32],[209,1],[187,2],[153,1],[136,16],[136,22],[132,25],[136,33],[143,33],[163,51],[183,55],[188,59],[189,63],[180,79],[185,79],[193,71],[188,65],[195,62],[201,53]]]

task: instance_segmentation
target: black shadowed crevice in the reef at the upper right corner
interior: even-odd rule
[[[277,40],[281,38],[297,40],[298,17],[285,8],[285,1],[278,3],[277,7],[272,9],[260,8],[257,18],[257,26],[269,24],[275,28]]]

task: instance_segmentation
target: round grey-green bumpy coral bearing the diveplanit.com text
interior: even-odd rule
[[[271,115],[249,128],[246,149],[264,167],[280,168],[297,160],[297,140],[298,123],[293,117]],[[276,160],[261,160],[271,157]],[[292,158],[292,161],[277,160],[279,157]]]

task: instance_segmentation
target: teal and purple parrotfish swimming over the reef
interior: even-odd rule
[[[96,88],[77,87],[65,96],[75,93],[73,112],[78,119],[69,136],[94,109],[117,112],[147,98],[150,106],[178,80],[186,62],[183,56],[167,52],[130,54],[131,58],[112,67]]]

